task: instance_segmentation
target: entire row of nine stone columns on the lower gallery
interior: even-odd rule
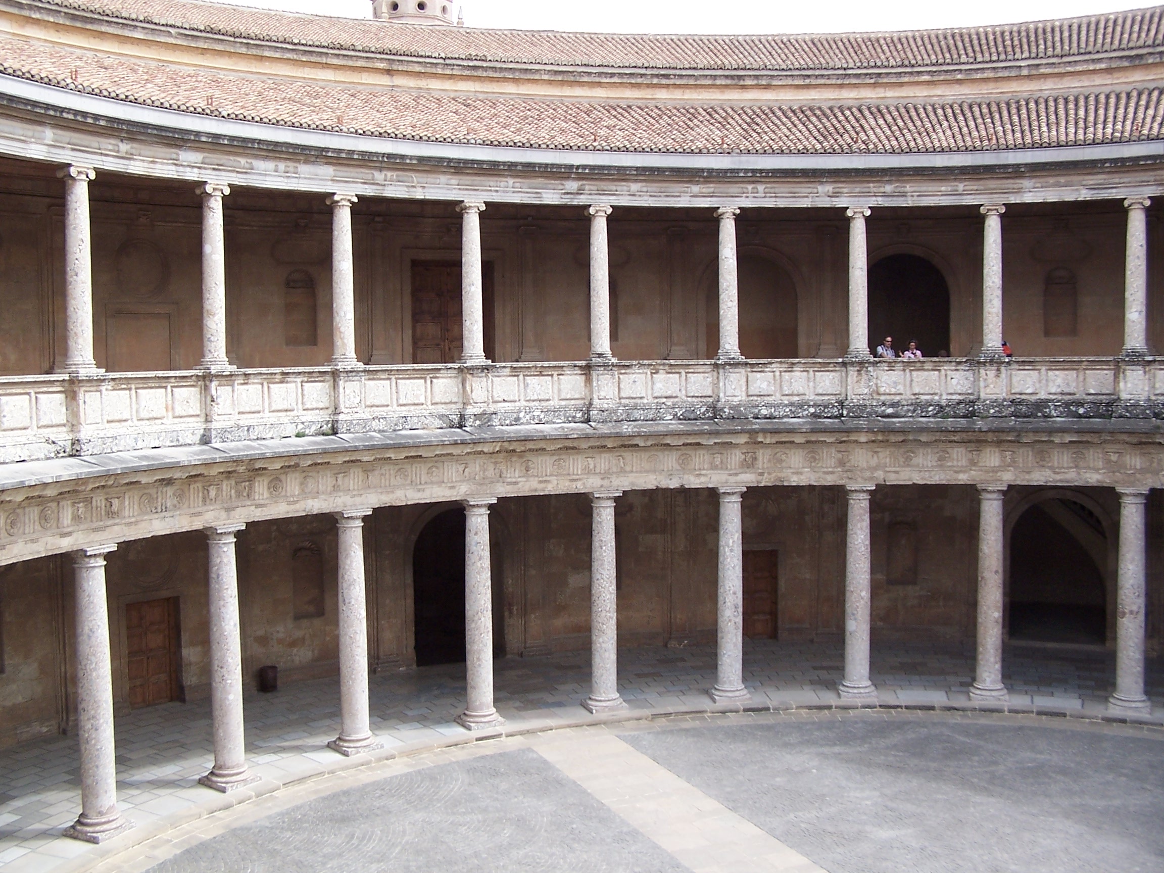
[[[842,700],[875,705],[871,681],[871,512],[875,485],[845,485],[844,674]],[[741,498],[747,489],[715,488],[718,497],[716,680],[707,689],[716,703],[746,704],[744,684],[744,587]],[[979,485],[977,656],[970,686],[972,702],[1008,700],[1002,681],[1003,499],[1005,485]],[[1119,548],[1116,580],[1113,714],[1150,712],[1144,688],[1145,555],[1148,489],[1117,488]],[[583,701],[591,712],[626,707],[618,690],[617,567],[615,509],[622,491],[590,494],[590,650],[591,687]],[[464,609],[467,707],[457,722],[475,731],[504,724],[494,705],[494,601],[491,594],[490,508],[496,498],[470,498],[464,508]],[[340,638],[341,730],[328,745],[354,755],[378,748],[369,726],[369,653],[364,580],[364,523],[371,508],[336,512]],[[229,792],[257,780],[248,769],[243,745],[243,676],[240,643],[235,534],[243,524],[205,528],[208,547],[210,695],[214,764],[199,781]],[[80,745],[81,812],[66,833],[101,842],[132,824],[119,812],[114,748],[114,698],[111,676],[106,555],[115,544],[72,553],[76,584],[77,734]]]

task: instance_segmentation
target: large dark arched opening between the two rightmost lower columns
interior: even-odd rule
[[[1023,512],[1010,533],[1010,638],[1102,645],[1106,549],[1102,523],[1080,503],[1044,501]]]

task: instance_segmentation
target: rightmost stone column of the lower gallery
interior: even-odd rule
[[[1144,695],[1144,540],[1148,490],[1117,488],[1120,492],[1120,569],[1115,603],[1115,694],[1107,698],[1113,712],[1151,712]]]

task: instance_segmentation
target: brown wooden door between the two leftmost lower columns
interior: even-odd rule
[[[178,700],[178,598],[127,604],[126,643],[129,705]]]

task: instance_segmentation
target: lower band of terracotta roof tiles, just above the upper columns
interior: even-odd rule
[[[982,151],[1159,140],[1159,87],[851,105],[478,97],[268,80],[0,37],[0,72],[205,115],[371,136],[553,149],[745,154]]]

